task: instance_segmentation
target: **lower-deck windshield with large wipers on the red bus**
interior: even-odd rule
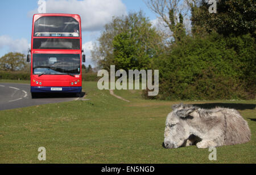
[[[80,74],[80,54],[33,54],[33,74]]]

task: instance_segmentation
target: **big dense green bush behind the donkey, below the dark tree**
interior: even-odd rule
[[[158,99],[255,99],[256,49],[249,34],[188,36],[170,50],[154,64],[159,69]]]

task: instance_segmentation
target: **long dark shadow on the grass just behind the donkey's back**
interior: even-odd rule
[[[241,103],[205,103],[205,104],[193,104],[200,108],[210,109],[215,107],[232,108],[237,110],[255,109],[256,104],[241,104]]]

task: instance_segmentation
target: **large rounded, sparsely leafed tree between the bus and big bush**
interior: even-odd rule
[[[105,25],[92,51],[92,58],[101,68],[148,69],[162,46],[162,37],[142,11],[113,18]]]

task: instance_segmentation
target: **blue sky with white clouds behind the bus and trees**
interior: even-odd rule
[[[100,36],[104,23],[110,22],[112,16],[142,10],[150,20],[156,19],[156,15],[142,0],[46,0],[46,4],[47,12],[76,13],[81,16],[86,66],[92,64],[92,43]],[[0,57],[8,52],[26,54],[31,42],[32,14],[37,13],[37,9],[38,0],[1,1]]]

